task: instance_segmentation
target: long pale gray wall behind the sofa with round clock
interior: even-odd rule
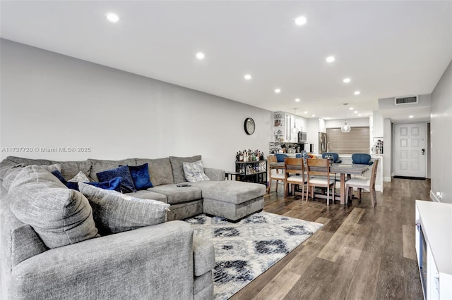
[[[234,169],[239,149],[268,152],[270,111],[5,39],[1,46],[0,157],[60,161],[201,154]],[[256,132],[246,135],[244,120]],[[90,147],[18,153],[10,147]]]

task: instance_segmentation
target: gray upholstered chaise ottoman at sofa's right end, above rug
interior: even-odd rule
[[[203,193],[203,211],[232,221],[261,211],[266,186],[251,182],[217,181],[200,186]]]

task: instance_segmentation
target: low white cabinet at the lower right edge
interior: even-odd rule
[[[452,204],[416,200],[416,255],[424,299],[452,299]]]

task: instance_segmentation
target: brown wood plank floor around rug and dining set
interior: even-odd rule
[[[429,201],[429,190],[429,180],[393,179],[372,208],[367,192],[344,207],[273,187],[264,211],[323,227],[231,299],[422,299],[415,200]]]

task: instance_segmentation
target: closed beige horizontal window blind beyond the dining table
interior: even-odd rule
[[[369,153],[369,127],[352,127],[350,132],[327,128],[328,150],[339,154]]]

